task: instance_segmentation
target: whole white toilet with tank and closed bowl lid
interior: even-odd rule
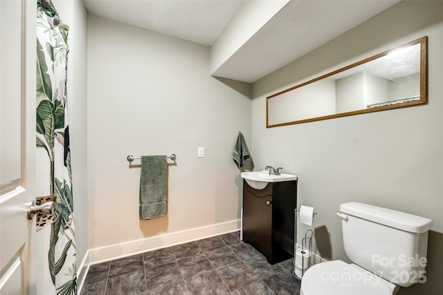
[[[348,258],[318,263],[302,276],[301,295],[393,295],[426,280],[432,220],[359,202],[341,204]]]

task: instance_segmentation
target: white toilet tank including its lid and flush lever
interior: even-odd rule
[[[426,281],[431,219],[359,202],[341,204],[340,211],[353,263],[402,287]]]

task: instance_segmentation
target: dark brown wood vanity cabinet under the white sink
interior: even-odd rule
[[[297,180],[269,182],[253,189],[243,180],[243,240],[271,265],[293,257]]]

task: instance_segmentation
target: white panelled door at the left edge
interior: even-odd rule
[[[35,294],[35,0],[0,0],[0,294]]]

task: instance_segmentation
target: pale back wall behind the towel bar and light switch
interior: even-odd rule
[[[232,152],[239,131],[251,146],[251,84],[210,77],[209,61],[206,46],[89,15],[90,248],[237,228],[242,182]],[[129,153],[177,154],[177,164],[168,160],[167,216],[138,219],[140,162],[130,166]]]

